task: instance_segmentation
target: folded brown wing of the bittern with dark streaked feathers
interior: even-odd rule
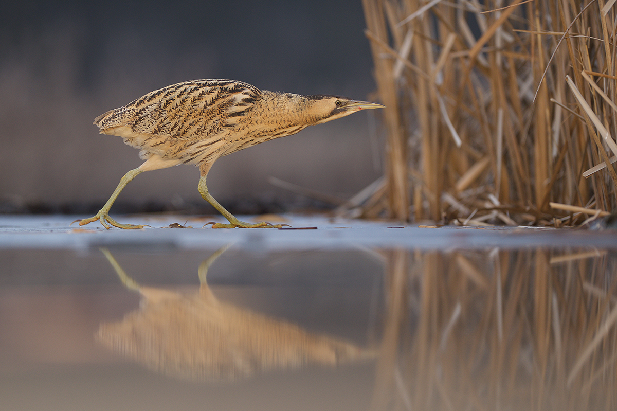
[[[124,137],[210,138],[233,127],[261,96],[259,89],[240,81],[184,81],[110,110],[94,124],[101,133]]]

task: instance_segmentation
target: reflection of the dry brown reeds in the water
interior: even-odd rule
[[[615,254],[383,256],[372,410],[617,409]]]

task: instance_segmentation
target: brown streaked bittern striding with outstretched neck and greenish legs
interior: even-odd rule
[[[193,164],[201,173],[199,193],[229,221],[229,224],[212,223],[212,228],[280,227],[267,222],[241,222],[218,204],[205,183],[214,162],[246,147],[295,134],[310,125],[379,107],[384,106],[340,96],[274,93],[233,80],[184,81],[151,91],[94,119],[101,134],[122,137],[125,144],[139,149],[139,157],[146,161],[127,172],[102,209],[94,217],[81,220],[79,225],[99,220],[107,229],[109,224],[118,228],[143,228],[144,225],[120,224],[109,217],[120,191],[140,173]]]

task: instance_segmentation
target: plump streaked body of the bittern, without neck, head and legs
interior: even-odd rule
[[[197,164],[225,152],[231,129],[248,117],[262,91],[241,81],[193,80],[152,91],[94,119],[102,134],[141,150]]]

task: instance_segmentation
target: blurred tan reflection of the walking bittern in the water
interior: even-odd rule
[[[199,267],[196,293],[139,286],[107,250],[122,282],[143,297],[121,322],[103,323],[99,342],[168,376],[193,381],[233,381],[268,370],[337,365],[374,352],[346,341],[219,301],[206,283],[209,266],[227,247]]]

